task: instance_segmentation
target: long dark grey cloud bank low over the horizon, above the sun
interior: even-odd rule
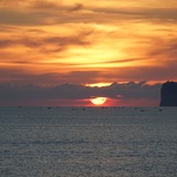
[[[0,85],[1,103],[18,104],[23,101],[30,103],[51,100],[85,100],[96,96],[105,96],[119,101],[132,100],[158,100],[160,84],[148,85],[146,82],[128,82],[124,84],[113,83],[104,87],[88,87],[77,84],[62,84],[59,86],[37,86],[33,84],[24,86]]]

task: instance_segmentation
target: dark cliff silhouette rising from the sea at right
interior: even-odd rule
[[[177,82],[168,81],[163,84],[160,106],[177,106]]]

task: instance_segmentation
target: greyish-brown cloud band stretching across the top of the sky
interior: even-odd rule
[[[0,10],[1,24],[17,24],[17,25],[43,25],[43,24],[61,24],[61,23],[81,23],[81,22],[108,22],[123,21],[125,19],[133,20],[159,20],[160,22],[175,22],[177,20],[176,8],[94,8],[84,7],[82,3],[65,6],[60,1],[38,0],[21,2],[10,1],[2,2],[0,6],[10,8],[2,8]],[[18,10],[13,8],[18,7]],[[100,6],[97,6],[100,7]],[[23,9],[24,8],[24,9]],[[84,14],[76,12],[85,10]],[[88,12],[88,13],[86,13]],[[111,19],[112,18],[112,19]]]

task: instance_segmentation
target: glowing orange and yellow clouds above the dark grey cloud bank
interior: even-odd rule
[[[0,82],[177,80],[176,1],[98,2],[0,1]]]

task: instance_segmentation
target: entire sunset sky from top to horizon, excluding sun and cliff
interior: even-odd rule
[[[0,0],[0,105],[157,106],[167,80],[177,0]]]

